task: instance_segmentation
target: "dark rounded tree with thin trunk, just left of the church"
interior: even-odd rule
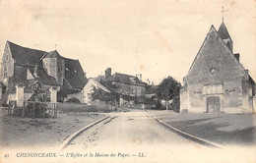
[[[157,89],[157,96],[159,99],[165,101],[166,110],[168,110],[168,100],[174,100],[177,96],[179,96],[179,89],[179,82],[170,76],[160,82],[160,85]]]

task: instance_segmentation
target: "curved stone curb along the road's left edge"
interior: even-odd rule
[[[88,130],[89,128],[92,128],[93,126],[95,126],[96,124],[104,121],[105,119],[109,118],[110,116],[106,116],[84,128],[82,128],[81,130],[79,130],[78,132],[74,133],[73,135],[69,136],[67,139],[65,139],[59,146],[58,146],[58,150],[61,151],[63,150],[64,148],[66,148],[69,143],[74,140],[77,136],[79,136],[82,132],[85,132],[86,130]]]

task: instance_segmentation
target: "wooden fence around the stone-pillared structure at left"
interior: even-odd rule
[[[23,107],[17,107],[16,101],[10,101],[8,115],[20,117],[57,117],[58,103],[25,101]]]

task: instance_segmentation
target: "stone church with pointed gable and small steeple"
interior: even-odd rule
[[[180,110],[197,113],[254,112],[255,81],[233,53],[233,42],[222,23],[212,26],[180,90]]]

